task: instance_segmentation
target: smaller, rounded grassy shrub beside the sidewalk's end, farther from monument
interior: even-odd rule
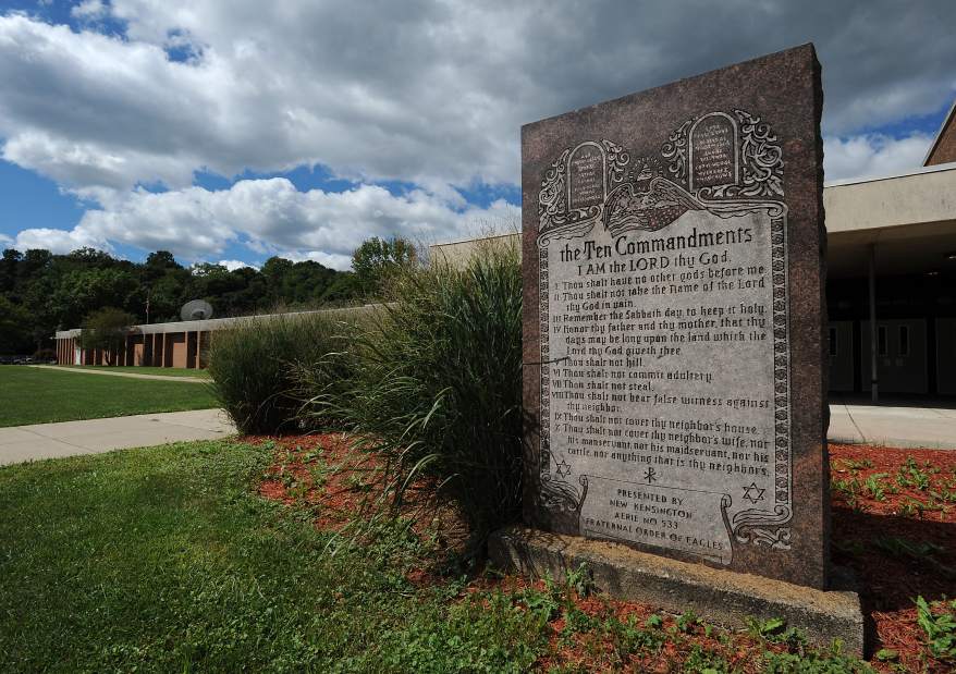
[[[353,315],[344,311],[286,314],[248,320],[215,333],[208,369],[220,404],[243,433],[271,434],[310,430],[324,422],[319,415],[296,415],[309,392],[330,393],[347,385],[345,352]]]

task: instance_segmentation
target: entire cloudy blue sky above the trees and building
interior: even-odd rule
[[[7,2],[0,244],[341,269],[512,229],[523,123],[810,40],[828,180],[918,168],[956,97],[952,2],[689,7]]]

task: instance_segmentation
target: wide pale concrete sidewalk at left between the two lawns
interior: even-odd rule
[[[215,440],[234,432],[221,409],[12,426],[0,428],[0,466],[182,440]]]

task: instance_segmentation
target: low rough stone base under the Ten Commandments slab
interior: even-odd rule
[[[688,564],[638,552],[612,542],[549,534],[523,526],[494,532],[488,543],[492,563],[502,571],[564,578],[581,563],[595,586],[609,595],[642,601],[726,627],[743,627],[745,618],[783,618],[806,632],[810,641],[826,647],[842,639],[844,652],[863,654],[863,615],[851,581],[821,591],[782,580]]]

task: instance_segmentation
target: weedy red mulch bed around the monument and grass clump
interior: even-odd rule
[[[342,530],[363,516],[369,499],[382,495],[370,455],[353,452],[341,434],[247,441],[274,451],[259,492],[311,508],[317,527]],[[808,649],[782,621],[728,632],[693,613],[667,615],[595,596],[583,571],[559,586],[491,569],[450,577],[446,565],[422,563],[406,580],[451,601],[510,598],[550,635],[547,654],[536,662],[540,671],[953,671],[956,605],[947,597],[956,593],[956,452],[831,445],[831,462],[834,557],[856,572],[875,626],[869,663]],[[437,550],[467,538],[454,508],[432,515],[413,520],[415,534]]]

